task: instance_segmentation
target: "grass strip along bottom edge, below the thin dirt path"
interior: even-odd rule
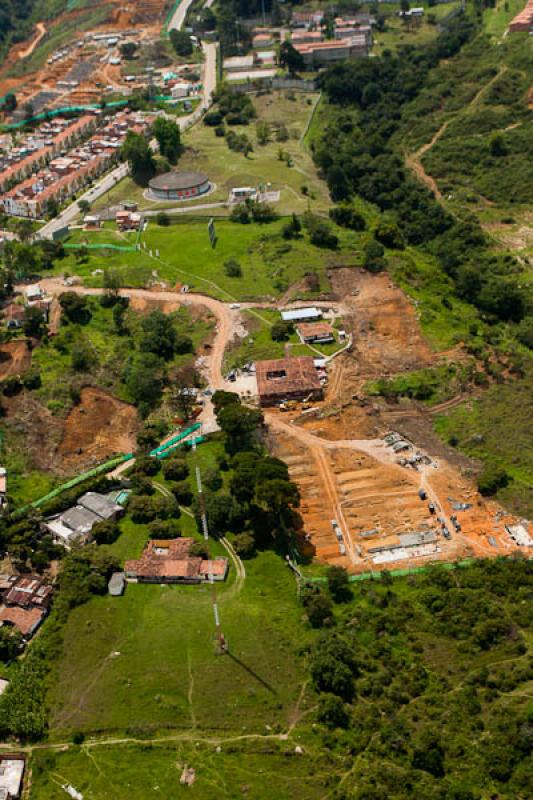
[[[266,733],[266,732],[265,732]],[[199,741],[200,739],[200,741]],[[296,739],[298,741],[298,739]],[[191,792],[198,800],[318,800],[324,796],[333,772],[333,759],[314,745],[295,755],[294,743],[264,741],[203,742],[72,747],[66,753],[36,753],[32,800],[63,800],[58,785],[64,777],[91,800],[145,800],[181,798]],[[192,788],[181,786],[185,766],[195,769]]]

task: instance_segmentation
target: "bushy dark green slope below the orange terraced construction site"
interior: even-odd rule
[[[532,563],[385,574],[352,590],[332,573],[335,624],[309,669],[324,748],[346,759],[334,796],[531,797]],[[313,611],[327,605],[325,592],[309,597]]]

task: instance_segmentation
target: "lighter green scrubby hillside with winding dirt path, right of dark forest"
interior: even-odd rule
[[[509,36],[498,46],[481,35],[435,70],[411,104],[402,142],[416,149],[441,131],[422,163],[454,200],[476,203],[485,198],[505,206],[531,202],[532,57],[525,35]]]

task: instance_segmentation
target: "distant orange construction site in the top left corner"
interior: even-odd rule
[[[111,95],[128,96],[145,86],[153,76],[132,70],[135,61],[124,61],[120,47],[134,43],[137,58],[142,56],[154,70],[172,66],[161,39],[169,5],[161,0],[104,0],[76,7],[51,23],[39,23],[34,39],[13,47],[0,70],[0,97],[15,93],[18,102],[17,110],[4,121],[20,121],[28,106],[39,114],[99,103]],[[51,49],[50,41],[59,44]]]

